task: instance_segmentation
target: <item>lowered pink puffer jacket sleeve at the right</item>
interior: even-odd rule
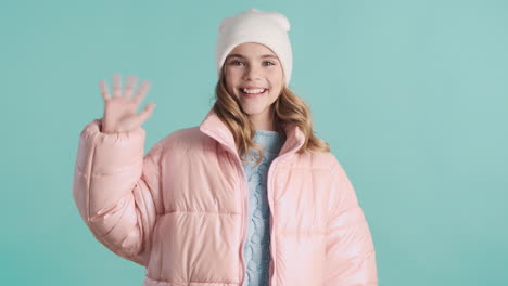
[[[369,225],[346,172],[334,160],[327,230],[326,286],[377,286]]]

